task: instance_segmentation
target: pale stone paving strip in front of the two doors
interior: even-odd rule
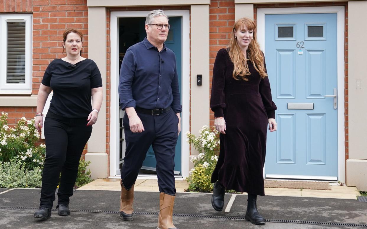
[[[176,191],[185,192],[188,188],[186,181],[175,181]],[[336,199],[356,199],[359,192],[356,187],[331,185],[331,190],[292,189],[292,188],[265,188],[268,196],[296,196],[296,197],[320,197]],[[79,188],[79,190],[109,190],[120,191],[120,179],[106,178],[97,179]],[[159,192],[157,180],[135,181],[134,191],[137,192]],[[246,195],[246,193],[244,194]]]

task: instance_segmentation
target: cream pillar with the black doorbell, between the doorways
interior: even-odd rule
[[[191,133],[197,134],[203,125],[209,125],[209,5],[191,5],[190,13]],[[201,86],[196,85],[197,74],[203,75]],[[191,154],[198,154],[193,147]]]

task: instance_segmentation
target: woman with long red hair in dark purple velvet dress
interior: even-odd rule
[[[233,26],[229,48],[215,58],[210,107],[220,134],[220,153],[211,182],[212,206],[222,211],[226,189],[247,192],[245,218],[265,224],[256,197],[264,196],[263,168],[266,132],[276,131],[276,106],[272,101],[264,53],[256,41],[256,25],[241,18]]]

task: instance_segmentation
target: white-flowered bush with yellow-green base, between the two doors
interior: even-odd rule
[[[190,170],[190,177],[186,178],[189,182],[188,191],[210,192],[213,189],[211,184],[211,174],[218,161],[215,152],[219,149],[219,134],[215,128],[210,129],[204,125],[199,130],[199,136],[190,132],[186,133],[187,142],[199,152],[199,155],[192,156],[191,162],[194,163]]]

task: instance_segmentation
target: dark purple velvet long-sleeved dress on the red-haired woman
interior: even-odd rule
[[[220,134],[220,153],[211,182],[227,189],[264,196],[268,118],[275,118],[268,77],[261,78],[250,61],[248,81],[232,77],[233,63],[227,49],[215,58],[210,107],[215,117],[224,117],[226,134]]]

